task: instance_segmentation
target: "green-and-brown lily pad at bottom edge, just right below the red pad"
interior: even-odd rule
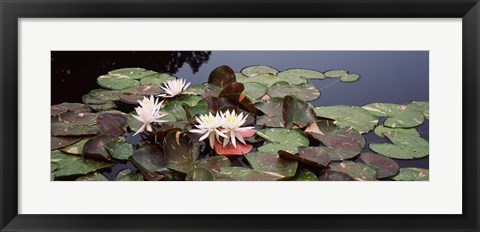
[[[274,173],[274,175],[283,177],[292,177],[297,171],[298,163],[296,161],[281,159],[278,154],[252,152],[246,154],[245,158],[247,158],[253,170],[256,171]]]

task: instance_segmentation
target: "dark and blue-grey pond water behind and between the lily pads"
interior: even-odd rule
[[[82,96],[100,88],[98,76],[124,67],[142,67],[186,78],[192,84],[204,83],[209,73],[220,65],[236,72],[250,65],[268,65],[280,71],[307,68],[318,71],[345,69],[358,73],[356,82],[337,78],[309,80],[321,91],[315,106],[361,106],[373,102],[403,104],[429,100],[428,51],[54,51],[51,57],[52,102],[82,102]],[[130,111],[129,105],[120,110]],[[428,140],[429,121],[417,127]],[[373,132],[364,135],[367,142],[387,141]],[[368,151],[366,146],[365,151]],[[429,168],[429,156],[415,160],[395,160],[401,167]],[[123,168],[136,169],[131,163],[114,166],[103,174],[114,179]]]

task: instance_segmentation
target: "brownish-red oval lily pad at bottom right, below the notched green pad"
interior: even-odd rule
[[[377,171],[379,179],[395,176],[400,169],[392,159],[372,152],[362,153],[360,158]]]

